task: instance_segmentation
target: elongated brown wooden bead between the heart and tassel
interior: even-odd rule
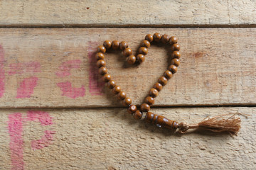
[[[156,115],[151,112],[146,113],[145,121],[148,123],[152,123],[158,127],[164,127],[174,130],[178,128],[178,123],[176,121],[169,120],[162,115]]]

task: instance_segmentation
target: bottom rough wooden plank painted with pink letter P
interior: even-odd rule
[[[1,110],[0,167],[11,169],[254,169],[256,108],[158,108],[198,123],[208,115],[247,113],[237,137],[177,136],[122,108]]]

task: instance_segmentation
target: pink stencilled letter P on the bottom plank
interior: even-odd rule
[[[28,111],[27,117],[22,118],[21,113],[11,113],[8,116],[8,130],[10,135],[9,147],[11,150],[11,169],[22,170],[24,169],[23,162],[23,120],[28,121],[38,121],[42,126],[53,125],[53,118],[49,113],[43,111]],[[48,147],[53,143],[53,135],[55,131],[45,130],[43,136],[39,140],[31,141],[32,149],[43,149],[43,147]]]

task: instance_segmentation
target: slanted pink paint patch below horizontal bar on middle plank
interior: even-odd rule
[[[28,77],[23,79],[17,89],[16,98],[30,98],[33,94],[33,89],[36,87],[37,81],[37,77]]]

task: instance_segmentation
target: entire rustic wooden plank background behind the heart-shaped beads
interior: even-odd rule
[[[256,2],[0,1],[0,169],[255,169]],[[238,136],[175,135],[133,120],[100,81],[95,49],[176,35],[181,67],[155,113],[189,123],[245,113]],[[112,77],[142,103],[168,65],[108,54]],[[146,82],[146,84],[145,84]]]

